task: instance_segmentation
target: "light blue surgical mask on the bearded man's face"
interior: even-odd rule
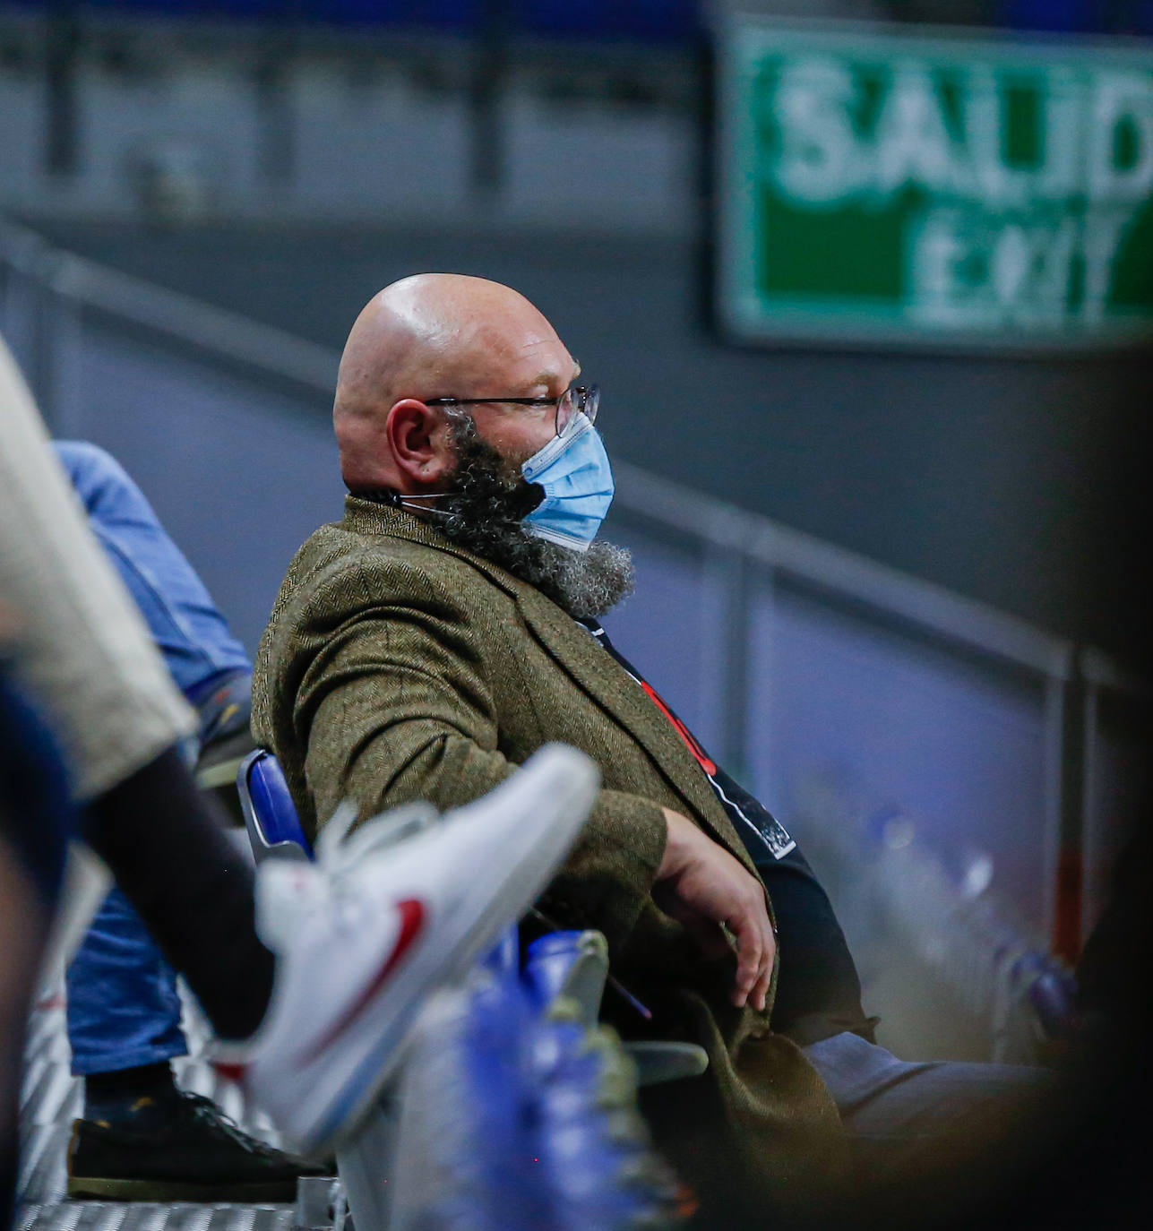
[[[564,435],[534,453],[521,473],[544,487],[544,500],[523,522],[529,534],[587,551],[613,502],[613,471],[600,433],[575,415]]]

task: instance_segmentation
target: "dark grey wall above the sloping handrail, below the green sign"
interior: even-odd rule
[[[406,273],[508,282],[602,385],[615,455],[1144,659],[1148,355],[742,350],[708,327],[705,262],[688,240],[38,225],[332,347],[361,305]]]

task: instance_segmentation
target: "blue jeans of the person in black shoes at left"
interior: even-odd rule
[[[89,527],[185,696],[196,703],[214,682],[250,671],[244,646],[119,463],[79,441],[58,441],[55,451]],[[118,889],[92,920],[66,982],[74,1073],[111,1072],[187,1053],[176,974]]]

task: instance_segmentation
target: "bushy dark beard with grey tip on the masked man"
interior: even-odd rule
[[[597,618],[632,592],[632,558],[623,547],[593,542],[576,551],[530,534],[521,521],[539,503],[540,489],[502,457],[468,415],[450,415],[457,468],[437,501],[444,535],[535,586],[577,619]]]

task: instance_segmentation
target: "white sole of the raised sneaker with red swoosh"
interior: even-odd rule
[[[548,794],[538,789],[538,796],[545,794],[541,806],[549,808],[556,795],[567,792],[575,795],[572,806],[556,814],[550,825],[537,831],[532,847],[522,851],[502,880],[493,884],[477,878],[473,895],[459,905],[453,931],[443,936],[437,952],[432,953],[426,948],[417,953],[412,965],[390,987],[381,991],[380,1000],[396,997],[405,1008],[395,1016],[394,1025],[343,1083],[340,1094],[329,1104],[327,1112],[322,1113],[319,1126],[304,1140],[295,1142],[297,1152],[305,1158],[331,1152],[356,1130],[401,1062],[405,1037],[428,992],[468,972],[477,954],[491,948],[501,932],[528,910],[572,847],[596,801],[600,774],[583,753],[573,748],[546,746],[530,760],[540,756],[559,764],[567,762],[560,783],[549,783]],[[548,776],[543,767],[538,766],[537,771]],[[553,777],[557,777],[556,771]],[[448,961],[443,958],[445,950],[452,953]],[[370,1017],[370,1009],[365,1011],[365,1018]]]

